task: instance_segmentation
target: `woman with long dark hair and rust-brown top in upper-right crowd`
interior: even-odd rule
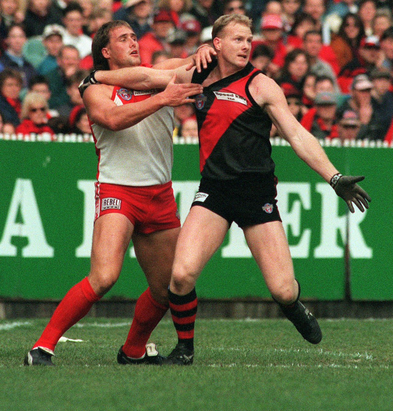
[[[346,14],[337,35],[330,43],[337,56],[340,69],[358,56],[360,41],[364,36],[363,23],[360,17],[353,13]]]

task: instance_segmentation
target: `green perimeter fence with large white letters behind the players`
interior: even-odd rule
[[[67,140],[66,140],[67,141]],[[365,213],[344,201],[281,139],[275,140],[278,206],[302,296],[344,298],[349,244],[355,299],[393,299],[391,148],[324,147],[342,173],[364,174]],[[60,299],[90,267],[97,157],[93,143],[0,140],[0,296]],[[198,191],[198,145],[175,144],[173,189],[183,222]],[[107,297],[137,298],[146,288],[132,245]],[[269,297],[233,224],[197,282],[205,298]]]

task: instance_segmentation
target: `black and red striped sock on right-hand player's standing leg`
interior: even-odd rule
[[[194,349],[194,324],[197,312],[195,288],[185,296],[178,296],[168,289],[169,307],[179,344]]]

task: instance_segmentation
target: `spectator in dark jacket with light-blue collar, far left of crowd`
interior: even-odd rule
[[[23,87],[27,87],[31,77],[37,74],[34,67],[22,55],[25,43],[26,35],[22,25],[12,24],[5,39],[7,48],[0,56],[0,70],[8,67],[19,71],[23,78]]]

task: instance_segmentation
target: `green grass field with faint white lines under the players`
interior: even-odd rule
[[[23,367],[44,319],[0,321],[0,410],[391,411],[393,320],[321,320],[305,342],[287,320],[197,319],[189,367],[116,363],[129,320],[85,318],[59,342],[56,367]],[[170,320],[151,341],[176,342]]]

